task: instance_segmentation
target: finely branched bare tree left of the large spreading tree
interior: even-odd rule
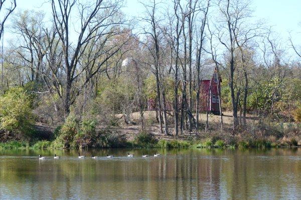
[[[14,17],[14,32],[20,37],[14,41],[13,53],[19,59],[15,66],[23,66],[29,69],[27,79],[41,82],[45,70],[45,54],[48,46],[45,46],[44,14],[26,10]],[[14,62],[15,60],[8,60]]]

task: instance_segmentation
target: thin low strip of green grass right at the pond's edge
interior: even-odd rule
[[[0,142],[0,150],[6,149],[108,149],[108,148],[119,148],[119,149],[146,149],[146,148],[228,148],[228,149],[236,149],[236,148],[299,148],[300,145],[294,145],[293,143],[275,143],[270,142],[266,139],[258,139],[253,141],[239,141],[234,142],[233,144],[226,144],[226,142],[222,139],[218,139],[214,141],[214,138],[205,138],[200,140],[182,140],[182,139],[173,139],[173,140],[154,140],[149,142],[141,142],[141,141],[126,141],[122,143],[120,146],[107,146],[107,147],[65,147],[65,148],[56,148],[51,146],[51,141],[48,140],[40,140],[37,142],[28,142],[28,141],[7,141]]]

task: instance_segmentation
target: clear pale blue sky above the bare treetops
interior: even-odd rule
[[[39,9],[50,12],[50,3],[44,0],[17,0],[18,9]],[[168,2],[168,1],[165,1]],[[124,12],[139,16],[142,5],[138,0],[127,0]],[[263,19],[266,24],[273,26],[273,30],[286,40],[291,33],[294,40],[301,44],[301,0],[253,0],[254,17]]]

